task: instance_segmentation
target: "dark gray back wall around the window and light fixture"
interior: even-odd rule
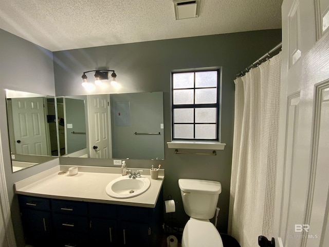
[[[165,169],[164,197],[166,199],[168,195],[172,195],[178,202],[173,217],[178,219],[180,227],[184,227],[188,216],[182,207],[178,179],[220,181],[222,193],[218,206],[221,211],[217,228],[220,232],[226,233],[234,117],[233,80],[240,70],[260,58],[279,42],[281,42],[281,30],[278,29],[57,51],[53,52],[56,94],[88,94],[81,86],[81,76],[84,71],[114,69],[117,81],[122,85],[121,89],[95,90],[93,94],[162,91],[165,143],[167,143],[171,140],[171,71],[221,66],[221,140],[226,143],[225,150],[217,151],[217,156],[183,155],[175,154],[174,150],[168,149],[166,144],[165,161],[161,162],[161,168]],[[93,74],[87,76],[92,78]],[[62,162],[81,164],[75,158],[71,158],[70,161],[67,158],[65,160],[61,158]],[[108,163],[111,164],[111,162]],[[102,165],[102,161],[95,164]],[[150,162],[129,160],[127,166],[148,167]]]

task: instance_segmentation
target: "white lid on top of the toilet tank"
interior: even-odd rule
[[[206,192],[209,194],[220,194],[222,192],[222,185],[217,181],[178,179],[178,186],[184,192]]]

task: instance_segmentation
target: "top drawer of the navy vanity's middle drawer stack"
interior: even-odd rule
[[[88,207],[86,202],[51,200],[52,211],[67,215],[87,215]]]

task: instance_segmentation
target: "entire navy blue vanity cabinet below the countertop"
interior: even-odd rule
[[[161,246],[162,189],[155,208],[18,197],[26,243],[35,247]]]

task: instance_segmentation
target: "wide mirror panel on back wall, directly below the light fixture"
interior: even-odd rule
[[[57,104],[61,156],[164,159],[162,92],[65,96]]]

